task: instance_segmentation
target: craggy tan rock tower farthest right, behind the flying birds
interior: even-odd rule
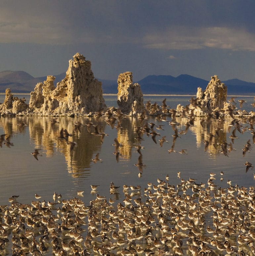
[[[217,75],[211,77],[205,91],[197,88],[196,99],[191,99],[190,108],[195,115],[208,114],[215,110],[227,109],[227,86],[221,82]]]

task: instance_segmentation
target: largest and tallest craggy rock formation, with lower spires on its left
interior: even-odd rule
[[[54,76],[38,83],[29,102],[34,115],[84,115],[105,110],[102,83],[94,78],[90,61],[79,53],[69,60],[65,78],[54,86]]]

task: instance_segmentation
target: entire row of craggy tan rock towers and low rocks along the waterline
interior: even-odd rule
[[[54,86],[55,77],[47,76],[43,83],[36,84],[30,93],[29,104],[25,99],[14,97],[6,89],[4,103],[0,105],[0,116],[93,116],[117,111],[107,108],[103,97],[102,83],[95,79],[91,62],[79,53],[69,60],[65,78]],[[227,86],[217,75],[211,77],[205,91],[198,87],[196,98],[190,105],[178,105],[169,109],[166,104],[144,104],[143,93],[138,83],[133,83],[132,72],[119,74],[117,104],[118,111],[128,116],[176,116],[221,115],[231,117],[253,116],[254,111],[238,109],[234,100],[227,101]]]

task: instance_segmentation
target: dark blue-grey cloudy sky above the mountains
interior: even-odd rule
[[[253,0],[0,0],[0,71],[58,75],[79,52],[100,79],[255,82],[254,10]]]

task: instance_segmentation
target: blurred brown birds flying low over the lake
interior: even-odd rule
[[[242,149],[243,156],[245,156],[246,152],[250,152],[250,149],[252,148],[251,144],[255,143],[255,130],[253,128],[253,125],[255,122],[255,116],[250,116],[250,117],[247,117],[246,119],[238,119],[238,118],[234,117],[234,113],[235,113],[234,111],[236,108],[235,98],[236,97],[232,97],[229,100],[231,105],[228,110],[213,111],[212,113],[208,114],[206,117],[200,118],[201,128],[207,129],[208,131],[210,130],[210,125],[212,123],[212,120],[217,121],[217,127],[215,127],[214,130],[212,130],[208,134],[208,138],[205,138],[203,140],[203,143],[205,144],[204,151],[207,151],[208,148],[211,145],[213,145],[214,149],[216,149],[218,152],[223,153],[225,156],[229,156],[229,153],[232,150],[234,150],[234,148],[233,148],[234,140],[239,138],[236,135],[236,133],[239,132],[240,134],[243,134],[245,132],[250,132],[252,134],[252,142],[250,139],[244,144],[244,148]],[[240,108],[243,107],[243,104],[247,104],[245,100],[238,100],[238,102],[240,103]],[[251,105],[253,106],[255,104],[251,104]],[[154,115],[155,118],[159,122],[162,121],[163,123],[169,123],[169,125],[171,125],[171,127],[173,129],[173,135],[171,135],[171,137],[173,137],[173,139],[172,139],[172,146],[170,149],[168,149],[168,152],[169,153],[179,152],[181,154],[188,154],[186,149],[180,149],[179,151],[176,151],[175,143],[178,138],[182,138],[183,136],[185,136],[188,133],[190,127],[195,126],[194,122],[195,122],[196,117],[194,115],[194,108],[199,108],[199,107],[201,107],[201,105],[200,105],[200,102],[198,101],[198,99],[194,99],[192,97],[190,100],[190,105],[187,105],[186,107],[184,107],[181,114],[178,113],[179,114],[178,117],[180,118],[180,120],[187,119],[187,122],[185,123],[185,129],[180,130],[179,127],[182,127],[182,125],[180,125],[180,121],[179,122],[177,121],[177,110],[174,108],[169,108],[169,106],[167,106],[167,104],[166,104],[166,99],[164,99],[162,101],[161,106],[159,106],[156,102],[154,104],[151,104],[150,101],[148,101],[145,104],[145,110],[141,115],[138,116],[138,125],[135,127],[135,134],[136,134],[135,139],[136,139],[137,143],[140,145],[140,146],[137,146],[138,147],[137,151],[139,153],[139,157],[138,157],[137,164],[135,164],[139,168],[139,175],[142,174],[143,168],[146,166],[145,164],[143,164],[143,154],[141,153],[141,149],[144,148],[143,146],[141,146],[142,141],[145,140],[144,135],[146,135],[147,137],[151,136],[151,139],[153,140],[153,142],[155,144],[157,144],[157,141],[159,141],[160,147],[163,147],[164,143],[169,143],[169,141],[170,141],[169,139],[167,140],[167,138],[166,138],[167,136],[161,137],[160,133],[156,132],[156,130],[164,131],[164,125],[162,125],[162,124],[155,125],[155,123],[147,122],[148,113],[150,115]],[[77,121],[74,124],[73,132],[79,133],[79,132],[81,132],[82,127],[86,126],[88,133],[90,133],[94,136],[99,136],[101,143],[103,144],[105,136],[108,136],[108,134],[101,131],[100,124],[97,122],[100,120],[100,118],[104,118],[106,120],[106,123],[112,129],[113,128],[119,129],[119,128],[122,128],[121,124],[122,124],[124,115],[120,111],[120,109],[117,109],[117,111],[115,111],[115,112],[111,111],[110,109],[108,109],[105,113],[103,113],[102,111],[103,111],[103,109],[101,109],[95,115],[94,120],[96,122],[94,122],[94,123],[88,122],[86,124],[82,124],[81,122]],[[226,122],[226,120],[225,120],[226,114],[228,114],[229,116],[231,116],[233,118],[233,120],[228,125],[228,132],[231,133],[231,135],[229,136],[229,138],[231,138],[231,142],[227,142],[227,140],[219,141],[220,134],[223,131],[224,123]],[[51,120],[52,127],[56,123],[59,123],[59,121],[57,119],[58,118],[53,118]],[[18,126],[20,129],[23,129],[24,126],[27,126],[27,124],[25,124],[24,122],[21,121],[18,123]],[[13,146],[13,143],[10,142],[10,135],[7,136],[6,138],[5,138],[5,136],[6,136],[6,134],[1,135],[0,146],[2,147],[2,143],[4,143],[7,147]],[[78,145],[75,141],[70,141],[69,137],[72,137],[72,133],[68,133],[67,129],[64,129],[62,127],[61,131],[59,133],[58,139],[65,140],[66,143],[69,145],[70,153],[72,153],[73,150]],[[161,138],[158,140],[157,139],[158,137],[161,137]],[[113,154],[116,155],[116,161],[118,162],[119,156],[121,155],[119,152],[119,147],[121,146],[121,144],[118,142],[117,138],[115,138],[114,144],[112,144],[112,145],[115,146],[115,150],[113,151]],[[40,149],[35,149],[34,152],[31,153],[35,157],[36,160],[38,160],[38,155],[41,156],[41,154],[39,153],[39,150]],[[99,153],[97,153],[95,155],[95,158],[92,159],[91,161],[93,161],[94,163],[103,162],[103,160],[99,158]],[[253,168],[253,165],[249,162],[246,162],[244,164],[246,165],[246,167],[248,169]],[[246,171],[248,171],[248,169],[246,169]]]

